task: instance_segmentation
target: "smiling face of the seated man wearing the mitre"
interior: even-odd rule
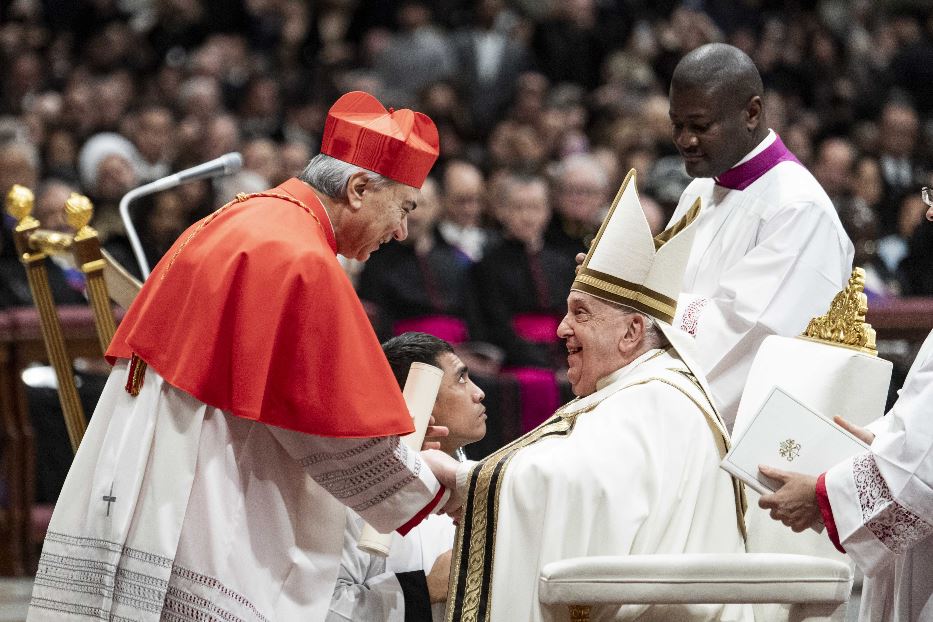
[[[574,395],[595,392],[600,378],[625,365],[619,344],[630,322],[618,307],[583,292],[570,292],[557,336],[567,345],[567,379]]]

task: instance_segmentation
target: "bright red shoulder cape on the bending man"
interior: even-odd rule
[[[324,206],[297,179],[264,194],[181,235],[107,358],[135,353],[206,404],[297,432],[411,432],[402,393],[337,262]]]

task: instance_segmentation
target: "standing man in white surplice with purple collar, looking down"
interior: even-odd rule
[[[685,56],[670,117],[695,178],[671,222],[702,202],[674,325],[695,336],[697,363],[731,429],[761,342],[800,334],[826,309],[854,250],[829,197],[768,129],[761,77],[745,53],[714,43]]]

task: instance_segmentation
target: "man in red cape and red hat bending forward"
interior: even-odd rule
[[[401,533],[455,507],[457,463],[399,442],[411,417],[337,260],[405,238],[437,155],[427,116],[347,93],[298,178],[182,234],[107,351],[30,620],[322,620],[344,506]]]

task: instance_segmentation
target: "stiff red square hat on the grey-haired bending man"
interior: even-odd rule
[[[386,110],[369,93],[352,91],[328,111],[321,153],[420,188],[437,160],[437,127],[425,114]]]

